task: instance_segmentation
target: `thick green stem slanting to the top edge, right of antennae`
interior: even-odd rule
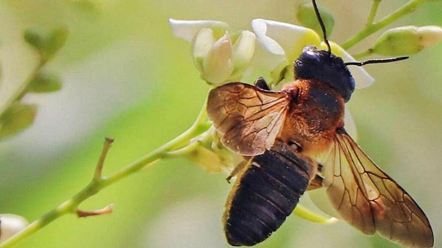
[[[396,21],[397,19],[413,12],[416,10],[417,6],[419,6],[421,3],[423,3],[423,0],[411,0],[390,15],[384,17],[382,20],[380,20],[377,23],[367,25],[361,32],[356,34],[355,36],[348,39],[346,42],[344,42],[341,47],[345,50],[348,50],[349,48],[353,47],[360,41],[364,40],[368,36],[372,35],[376,31],[384,28],[385,26],[389,25],[390,23]]]

